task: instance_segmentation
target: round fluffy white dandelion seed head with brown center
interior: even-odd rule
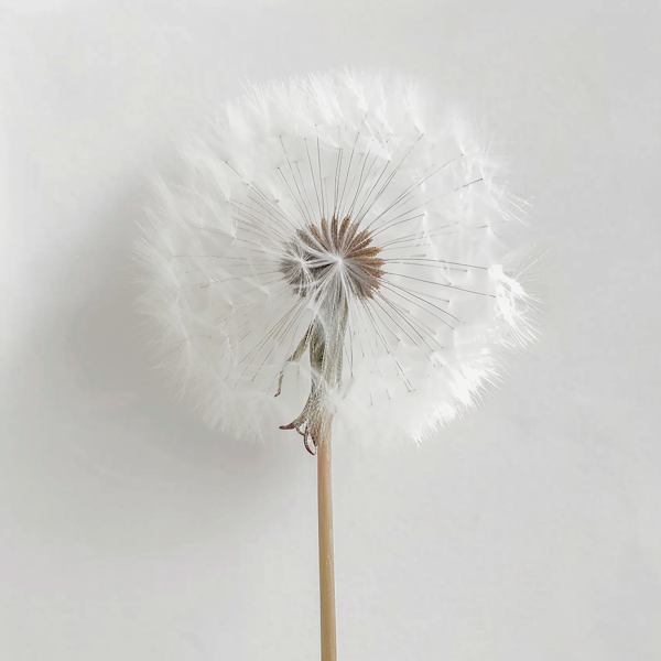
[[[142,303],[213,426],[262,437],[296,419],[323,371],[346,433],[420,441],[533,338],[508,270],[520,203],[467,127],[423,118],[408,83],[256,87],[180,165],[155,183]]]

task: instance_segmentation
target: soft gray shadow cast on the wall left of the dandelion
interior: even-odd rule
[[[130,257],[145,191],[89,218],[7,373],[0,473],[17,531],[39,544],[167,553],[259,527],[300,473],[314,479],[297,437],[214,432],[152,368]]]

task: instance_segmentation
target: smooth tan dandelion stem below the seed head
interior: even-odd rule
[[[330,426],[330,415],[325,415],[317,446],[322,661],[337,661]]]

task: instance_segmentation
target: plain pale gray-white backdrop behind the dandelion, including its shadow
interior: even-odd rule
[[[661,10],[4,0],[0,659],[318,658],[315,463],[151,369],[129,258],[242,84],[389,66],[485,118],[550,249],[543,337],[434,443],[336,442],[340,661],[661,659]]]

